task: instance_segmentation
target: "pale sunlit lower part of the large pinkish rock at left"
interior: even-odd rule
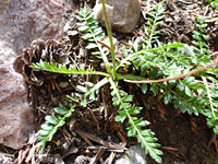
[[[13,70],[16,55],[0,42],[0,143],[20,149],[34,130],[34,115],[27,103],[23,77]]]

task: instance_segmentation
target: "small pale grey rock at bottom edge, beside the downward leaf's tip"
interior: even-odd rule
[[[133,145],[114,164],[147,164],[145,150],[140,144]]]

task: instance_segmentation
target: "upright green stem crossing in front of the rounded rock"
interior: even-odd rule
[[[117,79],[116,75],[116,54],[114,54],[114,46],[112,43],[112,33],[111,33],[111,27],[110,27],[110,23],[109,23],[109,19],[108,19],[108,13],[106,10],[106,0],[101,0],[102,2],[102,9],[104,9],[104,14],[105,14],[105,22],[106,22],[106,28],[107,28],[107,33],[108,33],[108,37],[110,40],[110,49],[111,49],[111,57],[112,57],[112,78],[113,80]]]

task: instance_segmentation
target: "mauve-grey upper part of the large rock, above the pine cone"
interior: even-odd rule
[[[60,38],[65,11],[77,9],[71,0],[0,0],[0,38],[19,54],[34,39]]]

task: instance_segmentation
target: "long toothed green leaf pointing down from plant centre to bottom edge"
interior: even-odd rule
[[[123,99],[129,96],[128,93],[120,91],[117,83],[113,82],[112,79],[109,79],[109,81],[112,89],[111,95],[113,96],[113,105],[114,99],[118,102],[116,104],[120,105],[120,109],[118,112],[119,115],[116,117],[116,121],[124,122],[124,120],[128,119],[128,136],[136,137],[141,147],[144,148],[145,151],[149,153],[154,160],[156,160],[156,162],[161,162],[161,157],[159,155],[161,155],[162,152],[157,150],[159,144],[155,143],[157,139],[154,137],[154,132],[145,129],[149,122],[147,120],[143,120],[143,118],[138,119],[137,117],[131,116],[133,114],[138,114],[142,108],[131,105],[130,103],[124,103]]]

